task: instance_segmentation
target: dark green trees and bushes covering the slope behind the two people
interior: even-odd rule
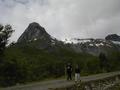
[[[110,55],[109,71],[119,70],[119,56],[116,52]],[[0,65],[3,71],[0,85],[9,86],[65,76],[67,62],[72,63],[73,70],[75,65],[79,64],[82,75],[108,70],[105,67],[103,71],[99,58],[90,54],[76,53],[63,48],[56,52],[48,52],[31,47],[12,46],[5,50],[4,60]]]

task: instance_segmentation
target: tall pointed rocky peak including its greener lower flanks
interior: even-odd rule
[[[19,46],[29,46],[38,49],[50,49],[57,41],[38,23],[30,23],[17,41]]]

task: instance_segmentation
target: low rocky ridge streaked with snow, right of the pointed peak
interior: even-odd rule
[[[68,41],[65,42],[67,43]],[[69,43],[74,51],[90,53],[92,55],[99,55],[101,52],[107,54],[109,51],[120,50],[120,44],[115,44],[112,41],[105,39],[75,38],[70,40]]]

